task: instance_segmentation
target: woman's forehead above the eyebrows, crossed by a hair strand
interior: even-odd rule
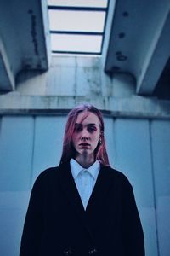
[[[77,124],[96,124],[99,125],[100,121],[95,113],[83,111],[77,116]]]

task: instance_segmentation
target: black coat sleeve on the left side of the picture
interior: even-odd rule
[[[43,174],[37,177],[31,190],[29,206],[20,243],[20,256],[38,255],[43,231],[43,205],[45,200],[45,183]]]

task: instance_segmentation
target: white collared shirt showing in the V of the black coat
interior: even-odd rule
[[[99,160],[96,160],[92,166],[88,169],[83,168],[76,160],[71,159],[71,173],[74,178],[74,181],[77,185],[78,193],[82,199],[82,204],[84,209],[88,205],[88,200],[94,185],[96,183],[98,174],[99,174]]]

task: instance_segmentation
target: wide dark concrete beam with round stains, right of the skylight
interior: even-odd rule
[[[152,94],[169,57],[169,9],[169,0],[119,0],[106,26],[105,72],[131,74],[138,94]]]

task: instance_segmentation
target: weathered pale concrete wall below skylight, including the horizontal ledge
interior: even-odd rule
[[[111,77],[100,57],[55,56],[48,72],[25,71],[16,90],[0,96],[0,113],[64,113],[82,102],[112,116],[170,118],[170,102],[137,96],[129,74]]]

